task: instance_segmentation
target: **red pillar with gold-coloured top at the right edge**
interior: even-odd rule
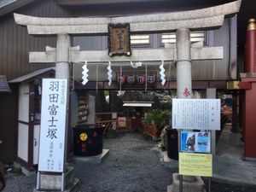
[[[241,73],[242,95],[242,135],[244,159],[256,160],[256,25],[249,20],[245,54],[245,73]]]

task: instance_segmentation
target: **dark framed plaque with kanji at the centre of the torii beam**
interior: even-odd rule
[[[108,24],[108,55],[131,55],[130,24]]]

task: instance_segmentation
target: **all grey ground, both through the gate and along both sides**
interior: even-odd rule
[[[237,152],[237,145],[226,145],[224,149],[222,140],[227,137],[223,136],[235,137],[230,137],[228,130],[223,133],[218,143],[218,154],[214,158],[216,162],[213,165],[211,191],[256,192],[255,185],[243,185],[256,183],[255,162],[242,161],[240,152],[238,155],[227,154],[228,148],[229,151]],[[177,166],[170,168],[162,165],[157,143],[151,139],[145,139],[139,133],[127,132],[117,138],[104,139],[104,148],[110,150],[102,164],[81,160],[73,160],[71,163],[75,177],[80,180],[79,192],[166,192],[167,186],[172,184],[172,173],[177,172]],[[234,150],[230,150],[232,148]],[[35,186],[35,174],[9,174],[3,192],[28,192]]]

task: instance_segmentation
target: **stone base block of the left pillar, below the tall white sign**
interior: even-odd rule
[[[73,167],[67,166],[65,172],[66,188],[73,183]],[[61,174],[41,172],[39,189],[45,190],[61,190],[62,177]]]

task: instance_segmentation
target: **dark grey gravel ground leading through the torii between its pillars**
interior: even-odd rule
[[[79,192],[166,192],[177,169],[161,165],[157,143],[140,133],[121,133],[104,139],[109,148],[102,164],[73,160],[74,176],[80,180]],[[36,176],[9,175],[4,192],[32,191]]]

